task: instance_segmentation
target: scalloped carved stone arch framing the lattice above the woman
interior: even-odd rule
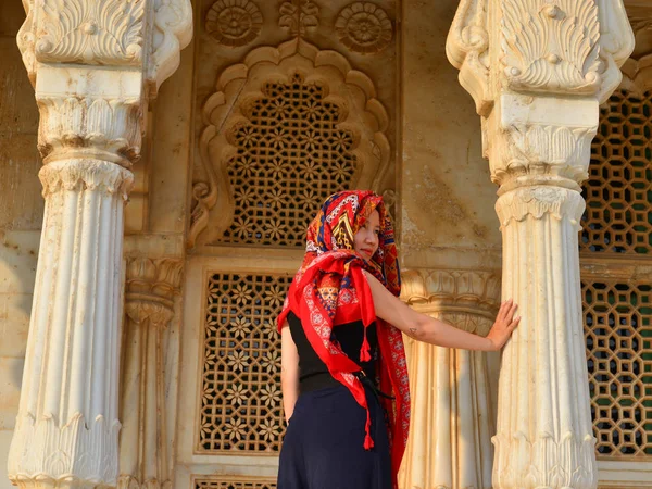
[[[353,187],[380,191],[380,183],[390,160],[385,134],[387,111],[376,98],[374,83],[351,67],[340,53],[319,50],[302,39],[278,47],[251,51],[242,63],[224,70],[215,92],[202,109],[204,128],[199,140],[201,171],[192,186],[192,220],[188,244],[205,244],[220,237],[234,218],[235,202],[227,174],[227,163],[236,154],[229,131],[250,122],[248,113],[264,97],[268,83],[288,83],[300,74],[306,84],[324,89],[324,102],[340,109],[337,127],[353,135],[356,171]],[[210,226],[209,226],[210,223]]]

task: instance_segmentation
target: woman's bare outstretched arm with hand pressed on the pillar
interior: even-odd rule
[[[372,274],[365,272],[365,276],[374,297],[376,316],[418,341],[446,348],[497,351],[510,339],[521,321],[521,317],[514,318],[517,305],[512,301],[503,302],[493,327],[484,338],[414,311],[387,290]]]

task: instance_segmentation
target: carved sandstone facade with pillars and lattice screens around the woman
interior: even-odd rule
[[[0,4],[14,482],[276,487],[274,318],[323,199],[372,188],[406,302],[482,335],[501,297],[524,317],[502,367],[409,342],[400,487],[650,487],[647,0],[22,3]]]

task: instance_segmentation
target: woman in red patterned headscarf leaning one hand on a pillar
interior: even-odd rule
[[[278,489],[391,489],[408,441],[402,334],[448,348],[497,351],[517,326],[501,304],[484,338],[398,299],[393,230],[381,197],[329,197],[308,229],[303,264],[278,317],[288,429]]]

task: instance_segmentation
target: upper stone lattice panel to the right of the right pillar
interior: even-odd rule
[[[652,92],[616,91],[600,113],[580,248],[652,253]]]

